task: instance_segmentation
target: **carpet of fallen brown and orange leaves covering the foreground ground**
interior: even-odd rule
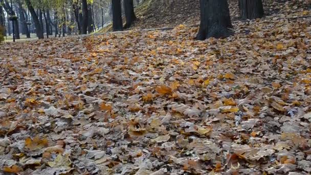
[[[310,173],[308,14],[2,45],[2,172]]]

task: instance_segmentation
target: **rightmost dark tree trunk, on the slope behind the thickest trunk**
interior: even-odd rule
[[[261,18],[264,14],[261,0],[239,0],[242,20]]]

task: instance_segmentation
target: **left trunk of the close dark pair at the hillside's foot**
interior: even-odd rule
[[[112,0],[112,10],[113,10],[113,30],[122,31],[122,10],[120,0]]]

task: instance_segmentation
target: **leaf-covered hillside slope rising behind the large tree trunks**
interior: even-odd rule
[[[232,20],[239,19],[238,3],[229,0]],[[263,0],[266,15],[291,14],[297,9],[310,9],[310,0]],[[138,20],[131,29],[151,29],[199,25],[199,0],[146,0],[136,9]]]

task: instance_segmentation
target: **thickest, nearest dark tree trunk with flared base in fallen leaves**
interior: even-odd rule
[[[227,0],[200,0],[201,24],[196,39],[224,38],[233,34]]]

